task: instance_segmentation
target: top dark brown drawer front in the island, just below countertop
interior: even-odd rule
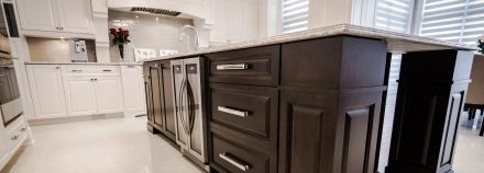
[[[210,82],[277,85],[280,46],[209,54]]]

